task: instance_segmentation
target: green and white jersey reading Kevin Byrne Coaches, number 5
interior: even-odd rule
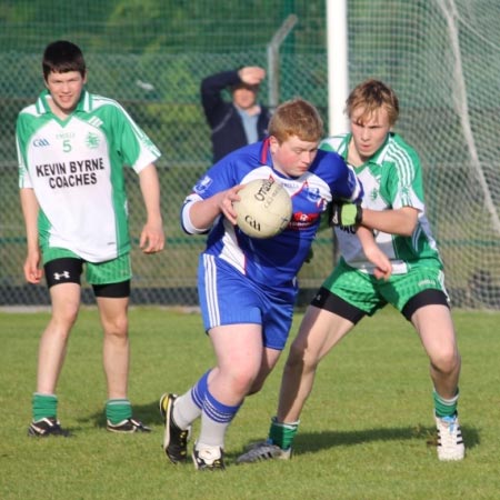
[[[130,251],[123,166],[139,173],[160,151],[114,100],[83,90],[66,120],[43,91],[18,116],[19,187],[40,204],[40,244],[90,262]]]

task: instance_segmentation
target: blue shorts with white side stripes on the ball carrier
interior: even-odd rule
[[[262,343],[283,350],[293,319],[297,289],[264,290],[221,259],[202,253],[198,294],[206,331],[226,324],[262,326]]]

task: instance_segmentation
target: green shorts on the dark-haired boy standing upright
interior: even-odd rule
[[[132,278],[130,253],[106,262],[88,262],[71,250],[63,248],[42,248],[43,266],[58,259],[78,259],[86,264],[86,279],[89,284],[120,283]]]

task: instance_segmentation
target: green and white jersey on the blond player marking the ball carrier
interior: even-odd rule
[[[350,140],[350,133],[336,136],[322,141],[320,148],[337,151],[347,161]],[[413,207],[419,210],[418,224],[411,237],[373,231],[377,243],[391,260],[392,272],[406,273],[410,267],[417,266],[442,268],[426,217],[422,169],[413,148],[400,136],[390,133],[379,151],[354,171],[363,184],[363,207],[372,210]],[[336,228],[336,236],[346,262],[372,272],[373,264],[366,259],[358,237],[349,228]]]

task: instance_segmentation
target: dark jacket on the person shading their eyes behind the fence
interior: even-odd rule
[[[238,110],[232,102],[222,99],[222,91],[238,83],[241,83],[241,80],[236,70],[212,74],[201,82],[201,103],[207,121],[212,129],[213,162],[219,161],[229,152],[247,146],[247,136]],[[259,140],[267,136],[270,118],[270,111],[261,106],[257,122]]]

